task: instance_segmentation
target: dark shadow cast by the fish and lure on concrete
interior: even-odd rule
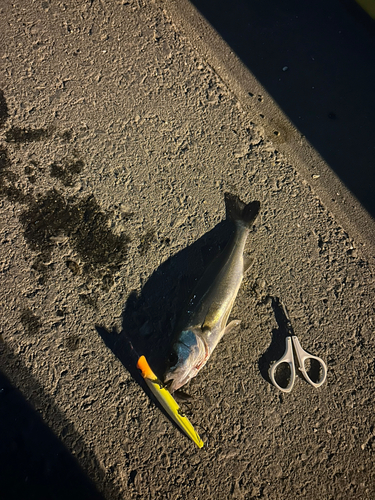
[[[163,380],[176,319],[206,267],[229,241],[233,229],[230,220],[223,220],[163,262],[139,294],[136,291],[129,294],[122,313],[121,332],[96,325],[106,346],[154,401],[136,367],[139,356],[144,355]]]

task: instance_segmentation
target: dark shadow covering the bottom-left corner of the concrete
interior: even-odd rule
[[[110,483],[104,484],[107,481],[95,455],[88,450],[73,424],[5,344],[1,347],[0,360],[1,498],[103,499],[87,471],[100,478],[103,489],[110,491],[112,498],[118,498],[116,488]],[[11,379],[21,381],[29,401]],[[48,425],[42,415],[51,419]],[[73,446],[78,460],[69,451]]]

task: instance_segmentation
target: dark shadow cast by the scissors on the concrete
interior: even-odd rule
[[[272,364],[278,361],[284,354],[286,348],[286,338],[291,335],[287,326],[287,318],[278,297],[271,297],[271,306],[278,328],[272,330],[271,343],[258,361],[260,374],[264,380],[270,384],[272,384],[272,382],[269,376],[269,369]]]

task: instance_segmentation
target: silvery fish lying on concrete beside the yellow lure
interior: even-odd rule
[[[234,232],[203,273],[176,323],[164,373],[164,384],[172,394],[198,374],[220,339],[241,323],[232,320],[227,324],[244,273],[252,262],[244,256],[244,248],[260,202],[245,204],[230,193],[224,197],[226,217],[233,221]]]

